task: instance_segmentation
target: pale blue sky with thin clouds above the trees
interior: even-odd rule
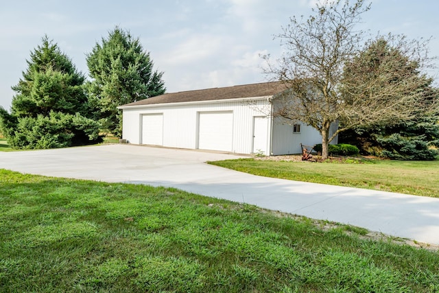
[[[291,16],[318,0],[15,0],[0,3],[0,106],[10,110],[30,52],[47,35],[88,76],[86,54],[116,26],[139,38],[168,93],[266,82],[261,54],[281,56]],[[366,0],[370,3],[370,0]],[[359,29],[430,38],[439,55],[437,0],[375,0]],[[429,75],[438,80],[436,71]]]

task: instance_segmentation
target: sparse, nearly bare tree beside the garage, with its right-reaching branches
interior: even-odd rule
[[[328,144],[344,130],[365,124],[385,124],[395,115],[403,119],[409,117],[414,108],[427,110],[432,106],[416,100],[416,97],[425,97],[418,91],[427,80],[418,78],[410,84],[395,83],[390,72],[373,75],[370,84],[375,84],[377,91],[369,91],[368,95],[364,95],[364,91],[351,91],[361,81],[356,80],[355,84],[348,80],[344,68],[353,64],[362,50],[364,33],[357,30],[356,25],[361,14],[370,9],[365,2],[322,1],[309,19],[293,17],[278,35],[285,52],[283,58],[276,64],[269,62],[267,69],[267,73],[285,82],[289,89],[276,98],[274,115],[316,128],[322,134],[323,159],[328,156]],[[407,52],[415,53],[405,61],[423,65],[428,59],[423,55],[425,47],[416,42],[405,44]],[[412,60],[412,57],[418,59]],[[265,58],[270,60],[270,56]],[[394,64],[397,74],[408,69],[396,68],[401,64]],[[331,125],[337,123],[341,127],[330,132]]]

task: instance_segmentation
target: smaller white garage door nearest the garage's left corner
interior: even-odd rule
[[[163,145],[163,114],[142,115],[141,143]]]

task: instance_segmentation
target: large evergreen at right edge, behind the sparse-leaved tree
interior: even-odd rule
[[[379,124],[363,124],[343,134],[340,140],[358,145],[366,154],[399,160],[433,160],[438,154],[432,147],[439,146],[439,113],[429,105],[437,104],[439,91],[431,86],[433,79],[420,73],[419,63],[411,60],[402,48],[379,38],[348,63],[344,71],[348,94],[344,101],[349,102],[350,95],[385,99],[375,115],[388,111],[384,105],[394,110],[414,98],[420,107],[407,108],[407,119],[395,115]]]

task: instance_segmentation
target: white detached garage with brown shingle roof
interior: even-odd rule
[[[300,153],[300,143],[320,143],[319,132],[271,116],[272,99],[285,90],[265,82],[166,93],[120,106],[123,139],[169,148],[265,155]]]

